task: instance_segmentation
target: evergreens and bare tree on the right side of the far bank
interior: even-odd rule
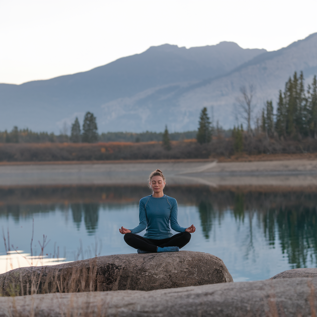
[[[272,100],[267,100],[262,109],[261,118],[256,118],[256,125],[252,129],[251,117],[254,110],[253,96],[254,87],[249,89],[241,87],[242,97],[237,98],[239,115],[245,121],[247,129],[243,125],[234,126],[231,130],[234,152],[243,151],[245,138],[261,138],[265,136],[270,139],[301,140],[303,138],[317,139],[317,80],[316,75],[311,85],[305,89],[304,76],[301,72],[298,76],[294,72],[285,84],[285,90],[279,91],[276,113]],[[197,142],[209,143],[212,137],[217,135],[215,127],[207,114],[207,108],[201,110],[197,132]],[[220,133],[221,134],[221,133]]]

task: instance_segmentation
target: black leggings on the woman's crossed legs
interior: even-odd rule
[[[124,235],[124,241],[130,247],[153,253],[156,252],[157,247],[178,247],[179,249],[183,248],[184,245],[189,243],[189,240],[191,240],[191,234],[186,231],[178,233],[166,239],[147,239],[131,232]]]

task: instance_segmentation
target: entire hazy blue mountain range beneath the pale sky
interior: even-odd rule
[[[0,130],[58,132],[86,111],[97,116],[100,132],[163,131],[165,124],[170,131],[193,130],[202,107],[210,113],[210,106],[229,128],[243,85],[256,88],[256,114],[266,100],[276,104],[278,90],[301,70],[306,84],[317,74],[317,33],[273,52],[232,42],[191,49],[165,44],[88,72],[0,84]]]

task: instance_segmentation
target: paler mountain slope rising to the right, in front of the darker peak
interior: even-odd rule
[[[278,51],[257,55],[216,78],[192,84],[174,83],[108,102],[102,106],[103,122],[110,126],[111,122],[118,121],[124,126],[134,123],[136,130],[139,122],[146,126],[152,122],[158,129],[164,121],[172,131],[194,130],[201,108],[210,110],[210,106],[214,106],[215,119],[228,129],[236,123],[233,110],[241,86],[255,86],[256,115],[266,100],[272,99],[275,106],[279,89],[284,90],[288,77],[301,70],[306,84],[311,83],[313,74],[317,74],[317,33]]]

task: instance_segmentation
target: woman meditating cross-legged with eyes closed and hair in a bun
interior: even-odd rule
[[[192,224],[188,228],[182,228],[177,222],[177,201],[163,193],[165,177],[161,170],[157,169],[150,174],[149,187],[153,193],[143,197],[139,203],[140,223],[134,229],[121,227],[120,233],[125,242],[138,253],[174,252],[179,251],[191,239],[191,233],[196,228]],[[171,228],[180,232],[173,236]],[[141,237],[137,233],[146,229],[146,234]]]

